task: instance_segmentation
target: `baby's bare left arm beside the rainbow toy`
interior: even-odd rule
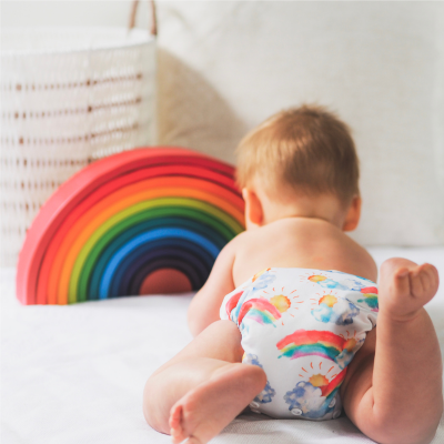
[[[242,234],[223,248],[205,284],[191,301],[188,310],[188,325],[193,336],[220,320],[219,310],[223,297],[234,290],[233,264],[240,236]]]

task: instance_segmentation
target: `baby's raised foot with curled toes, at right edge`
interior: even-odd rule
[[[381,268],[381,311],[400,321],[414,317],[433,299],[438,287],[437,270],[394,258]]]

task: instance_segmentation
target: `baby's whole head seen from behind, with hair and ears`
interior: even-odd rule
[[[248,229],[282,218],[319,218],[354,230],[359,160],[349,127],[321,107],[281,111],[241,141],[238,183]]]

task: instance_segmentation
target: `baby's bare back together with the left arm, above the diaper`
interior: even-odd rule
[[[337,226],[321,219],[284,218],[243,232],[222,250],[191,302],[191,333],[198,334],[219,319],[225,294],[272,266],[340,270],[371,281],[377,274],[372,256]]]

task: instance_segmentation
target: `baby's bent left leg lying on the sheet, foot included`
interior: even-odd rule
[[[218,321],[148,380],[143,413],[174,443],[206,443],[225,427],[266,384],[262,369],[241,364],[241,334],[231,321]]]

